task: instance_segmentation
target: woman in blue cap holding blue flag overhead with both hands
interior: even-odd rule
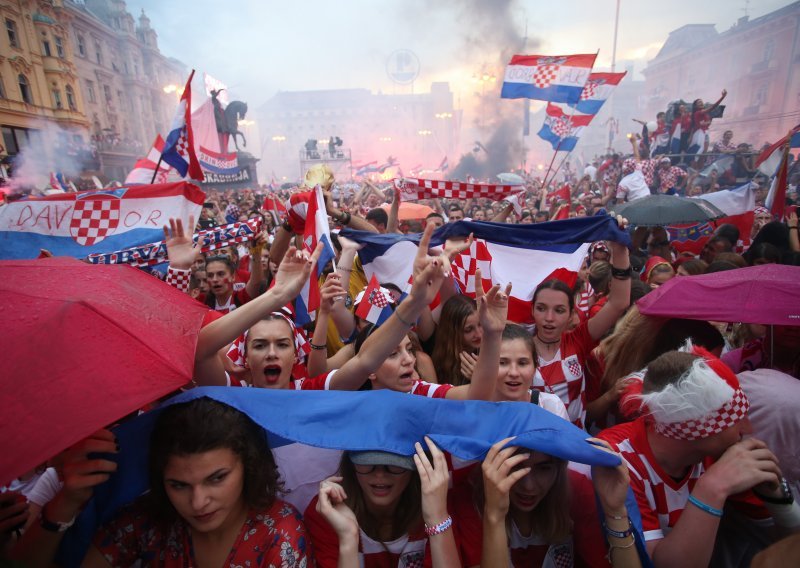
[[[322,568],[460,566],[447,511],[444,454],[425,439],[412,457],[345,452],[336,477],[320,484],[305,512]]]

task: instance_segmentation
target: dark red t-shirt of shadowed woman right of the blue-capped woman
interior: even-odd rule
[[[576,471],[567,470],[567,474],[571,492],[570,517],[573,522],[571,537],[565,542],[551,544],[537,535],[522,536],[511,523],[509,554],[515,568],[609,566],[592,482]],[[450,499],[453,530],[462,566],[479,565],[483,550],[483,520],[473,493],[473,486],[466,483],[455,488]]]

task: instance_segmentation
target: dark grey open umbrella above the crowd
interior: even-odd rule
[[[614,207],[616,215],[625,217],[636,227],[657,227],[673,223],[696,223],[724,217],[725,213],[704,199],[687,199],[675,195],[648,195]]]

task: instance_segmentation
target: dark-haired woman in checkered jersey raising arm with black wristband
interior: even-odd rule
[[[617,222],[622,229],[627,224],[621,217],[617,217]],[[542,282],[533,294],[533,341],[538,356],[533,387],[558,395],[567,407],[570,420],[581,428],[586,414],[586,359],[630,305],[632,270],[628,249],[621,243],[610,245],[612,268],[608,301],[588,321],[568,331],[575,296],[560,280]]]

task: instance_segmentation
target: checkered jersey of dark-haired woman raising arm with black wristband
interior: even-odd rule
[[[597,343],[586,322],[561,336],[561,345],[550,361],[538,357],[533,388],[558,396],[567,407],[570,421],[583,428],[586,418],[584,366]]]

